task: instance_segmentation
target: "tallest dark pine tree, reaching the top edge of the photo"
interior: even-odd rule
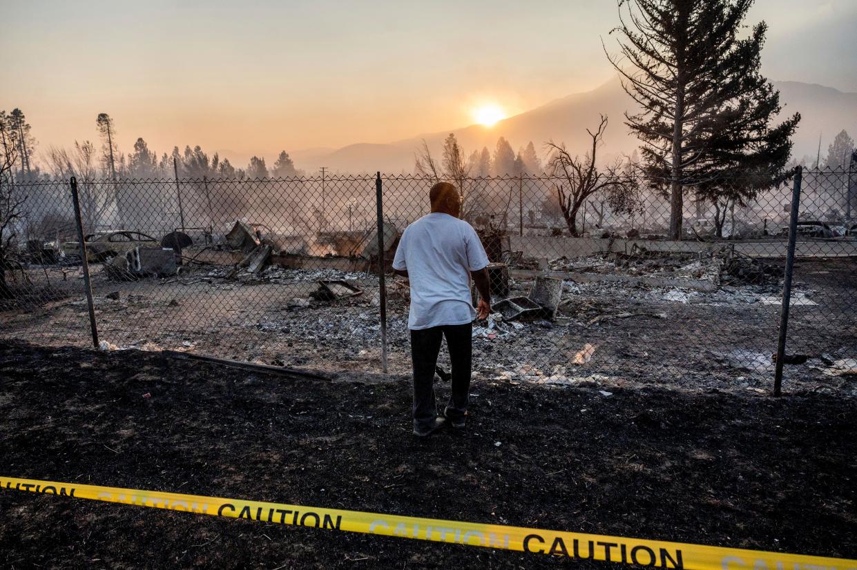
[[[686,189],[746,199],[777,180],[800,115],[769,127],[781,106],[759,74],[764,22],[739,38],[754,0],[618,1],[620,52],[608,58],[642,108],[626,124],[646,173],[668,189],[669,236],[680,239]],[[746,183],[718,186],[736,175]]]

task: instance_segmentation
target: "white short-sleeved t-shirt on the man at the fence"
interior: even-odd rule
[[[470,271],[487,265],[482,241],[464,220],[434,212],[411,223],[393,259],[393,269],[407,270],[411,281],[408,328],[471,323]]]

